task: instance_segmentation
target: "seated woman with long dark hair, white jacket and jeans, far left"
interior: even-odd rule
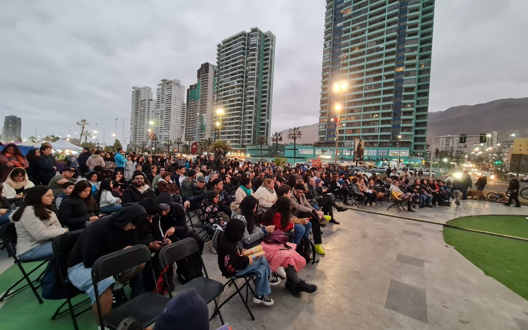
[[[53,192],[38,185],[27,191],[22,205],[11,215],[16,229],[16,256],[22,261],[51,259],[51,240],[68,231],[53,212]]]

